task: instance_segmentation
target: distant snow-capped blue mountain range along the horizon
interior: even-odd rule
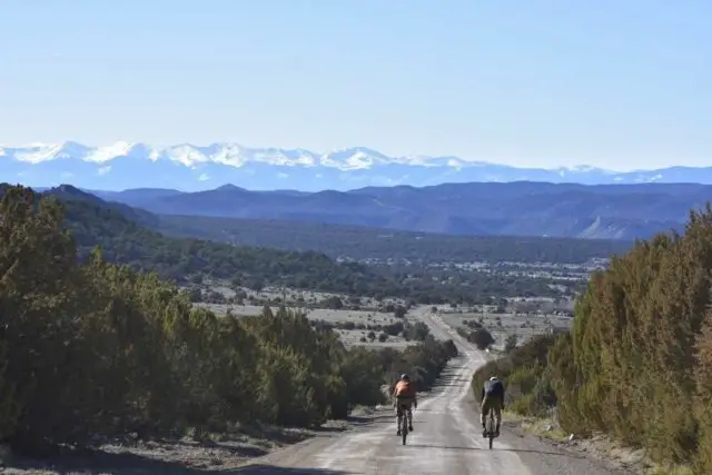
[[[189,144],[156,148],[117,142],[88,147],[67,141],[27,147],[0,145],[1,181],[33,187],[72,184],[103,190],[244,188],[316,191],[366,186],[428,186],[468,181],[548,181],[583,185],[712,184],[712,167],[670,167],[617,172],[590,166],[517,168],[442,156],[389,157],[365,147],[326,154],[306,149],[248,148],[237,144]]]

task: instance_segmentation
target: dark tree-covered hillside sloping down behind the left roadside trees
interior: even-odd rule
[[[259,288],[285,284],[313,290],[352,293],[384,285],[385,278],[357,264],[337,264],[322,253],[286,251],[265,247],[231,246],[201,239],[170,238],[148,229],[157,222],[150,212],[103,201],[73,187],[48,190],[66,209],[66,226],[81,257],[100,246],[108,261],[136,270],[156,270],[179,281],[195,275],[239,279]]]

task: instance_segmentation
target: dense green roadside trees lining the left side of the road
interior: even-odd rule
[[[426,388],[456,354],[431,336],[403,353],[348,350],[287,310],[217,318],[156,274],[97,251],[80,263],[62,206],[27,188],[4,189],[0,217],[0,442],[16,449],[313,426],[375,404],[400,372]]]

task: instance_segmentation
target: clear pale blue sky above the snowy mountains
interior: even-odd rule
[[[712,165],[710,0],[0,0],[0,144]]]

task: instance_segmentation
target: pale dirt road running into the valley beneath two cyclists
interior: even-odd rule
[[[603,466],[580,454],[552,447],[541,441],[506,432],[490,449],[482,437],[478,414],[472,404],[469,383],[485,363],[478,352],[461,338],[429,308],[414,316],[431,326],[435,336],[452,338],[461,350],[444,372],[439,384],[414,412],[414,432],[403,446],[396,435],[395,414],[342,436],[317,437],[255,459],[240,474],[506,474],[506,475],[604,475],[629,472]]]

